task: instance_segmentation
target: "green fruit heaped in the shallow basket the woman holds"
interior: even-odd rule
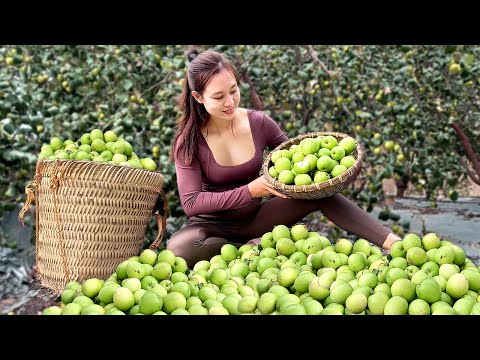
[[[338,141],[334,136],[302,139],[288,149],[272,152],[270,176],[286,185],[311,185],[343,174],[355,164],[351,155],[357,143],[346,137]]]

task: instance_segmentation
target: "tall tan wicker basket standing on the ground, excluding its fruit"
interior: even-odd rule
[[[27,185],[23,221],[35,200],[36,272],[42,286],[60,292],[69,281],[106,279],[138,255],[152,215],[165,233],[163,175],[93,161],[41,160]],[[160,196],[159,196],[160,195]],[[163,209],[157,209],[161,203]]]

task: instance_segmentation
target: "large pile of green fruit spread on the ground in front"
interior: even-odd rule
[[[106,280],[72,281],[47,315],[480,315],[480,269],[435,233],[382,250],[277,225],[258,245],[226,244],[188,269],[143,250]]]

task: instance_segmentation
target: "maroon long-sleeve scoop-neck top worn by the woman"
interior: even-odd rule
[[[261,198],[251,197],[248,183],[259,176],[265,148],[272,150],[288,138],[262,111],[248,110],[247,113],[255,144],[255,155],[247,162],[235,166],[218,164],[202,134],[190,166],[179,153],[175,161],[177,185],[187,216],[235,219],[245,215],[237,210],[255,208],[260,203]]]

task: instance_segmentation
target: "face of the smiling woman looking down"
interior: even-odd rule
[[[201,104],[211,117],[232,120],[240,103],[240,89],[235,77],[227,70],[213,75],[203,94],[192,91],[192,96]]]

